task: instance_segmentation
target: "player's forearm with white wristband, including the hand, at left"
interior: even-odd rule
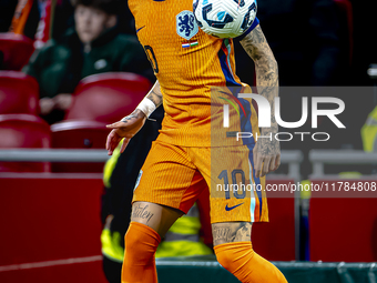
[[[146,99],[146,100],[145,100]],[[106,140],[108,154],[112,155],[113,151],[124,138],[121,152],[123,152],[129,144],[130,140],[140,131],[144,125],[146,118],[154,109],[162,104],[162,92],[159,81],[156,81],[151,91],[144,98],[146,103],[141,103],[130,114],[124,117],[121,121],[106,125],[113,129]],[[150,102],[149,102],[150,101]],[[152,107],[151,107],[152,104]]]

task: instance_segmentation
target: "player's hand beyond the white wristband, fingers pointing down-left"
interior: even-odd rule
[[[109,151],[108,154],[112,155],[113,151],[120,143],[120,141],[124,138],[121,153],[125,150],[128,146],[130,140],[132,137],[134,137],[140,129],[144,125],[146,120],[145,114],[136,109],[133,111],[130,115],[124,117],[121,121],[108,124],[108,129],[113,129],[106,140],[106,150]]]

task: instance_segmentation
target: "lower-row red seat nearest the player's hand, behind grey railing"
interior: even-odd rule
[[[51,125],[54,149],[104,149],[109,130],[96,121],[63,121]],[[53,172],[102,172],[103,163],[53,163]]]

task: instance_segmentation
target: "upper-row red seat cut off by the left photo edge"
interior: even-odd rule
[[[39,85],[22,72],[0,71],[0,114],[39,112]]]

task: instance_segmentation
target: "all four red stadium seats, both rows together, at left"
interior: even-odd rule
[[[21,72],[0,71],[0,148],[103,149],[112,123],[131,113],[150,90],[147,79],[133,73],[85,78],[73,93],[62,122],[49,127],[38,118],[37,81]],[[2,162],[0,171],[49,172],[49,163]],[[52,164],[53,172],[101,172],[102,164]]]

